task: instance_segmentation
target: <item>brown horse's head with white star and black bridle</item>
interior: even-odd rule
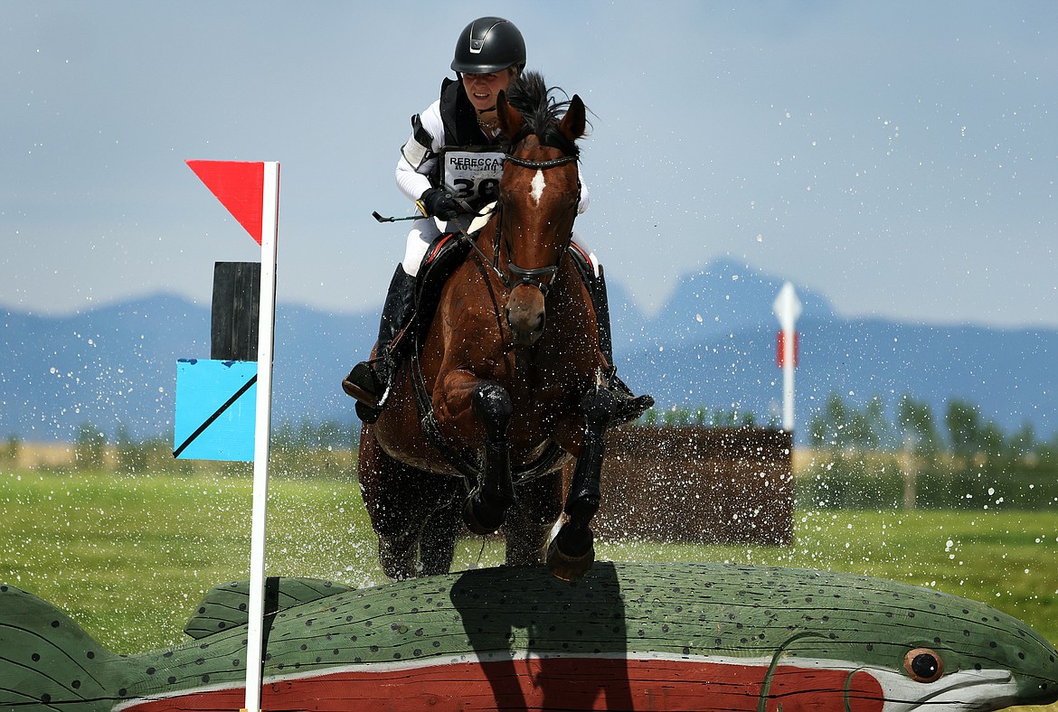
[[[525,97],[509,101],[501,92],[496,101],[500,130],[511,145],[499,183],[496,249],[507,257],[506,314],[514,343],[532,345],[544,333],[545,300],[572,237],[581,196],[574,142],[586,121],[579,96],[560,119],[562,105],[548,97],[543,79],[533,73],[524,79],[530,89],[519,81],[512,94],[521,90]]]

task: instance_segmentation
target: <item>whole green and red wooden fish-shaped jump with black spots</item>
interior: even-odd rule
[[[269,580],[264,710],[998,710],[1058,700],[1058,652],[928,588],[817,570],[600,562],[351,589]],[[0,711],[242,707],[247,586],[188,642],[118,656],[0,586]]]

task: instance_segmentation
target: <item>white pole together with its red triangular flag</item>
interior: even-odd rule
[[[272,352],[275,345],[275,265],[279,237],[279,164],[188,161],[209,191],[261,246],[260,319],[257,329],[257,412],[254,429],[254,501],[250,531],[250,620],[247,695],[241,712],[261,709],[264,648],[264,539],[268,461],[272,433]]]

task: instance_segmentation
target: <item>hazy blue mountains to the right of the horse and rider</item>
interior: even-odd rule
[[[656,317],[615,330],[620,372],[660,406],[748,411],[778,423],[771,304],[783,282],[730,260],[685,276]],[[947,402],[962,398],[1007,431],[1026,423],[1042,436],[1058,429],[1058,331],[845,319],[822,295],[799,287],[798,296],[801,433],[835,392],[858,405],[880,396],[891,409],[911,395],[932,406],[942,427]]]

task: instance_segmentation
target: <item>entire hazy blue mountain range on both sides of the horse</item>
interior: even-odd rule
[[[622,377],[660,408],[778,416],[782,374],[771,303],[780,277],[730,260],[685,275],[647,318],[610,283]],[[904,394],[940,417],[954,397],[1007,430],[1058,428],[1058,331],[927,326],[844,319],[820,294],[799,288],[799,432],[834,392],[890,406]],[[331,315],[280,304],[276,314],[275,424],[352,420],[339,382],[375,339],[378,314]],[[159,295],[68,317],[0,310],[0,437],[72,441],[91,423],[112,436],[170,436],[176,363],[208,358],[209,308]],[[778,417],[777,417],[778,420]],[[799,439],[803,439],[800,438]]]

